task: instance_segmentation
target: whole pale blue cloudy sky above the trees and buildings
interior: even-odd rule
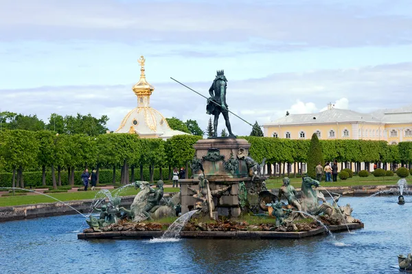
[[[155,86],[163,116],[196,119],[225,70],[229,110],[250,123],[335,108],[412,103],[409,0],[0,0],[0,109],[107,115],[117,129]],[[223,119],[218,131],[224,127]],[[233,133],[251,126],[231,115]]]

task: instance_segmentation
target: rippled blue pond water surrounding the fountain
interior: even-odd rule
[[[365,223],[301,240],[78,240],[78,215],[0,223],[0,273],[399,273],[411,251],[412,197],[345,197]]]

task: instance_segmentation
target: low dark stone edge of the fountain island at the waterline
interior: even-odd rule
[[[328,225],[331,232],[345,232],[347,227],[362,229],[363,223],[348,223],[346,225]],[[117,231],[117,232],[91,232],[79,233],[78,239],[148,239],[163,235],[163,231]],[[312,229],[308,232],[260,232],[260,231],[236,231],[236,232],[202,232],[182,231],[181,238],[208,238],[208,239],[281,239],[281,238],[306,238],[325,233],[323,227]]]

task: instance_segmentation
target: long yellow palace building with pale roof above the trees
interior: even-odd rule
[[[325,111],[290,114],[266,123],[263,128],[265,137],[304,140],[316,133],[320,140],[386,140],[389,144],[398,144],[412,141],[412,105],[361,113],[337,109],[329,104]],[[293,170],[293,166],[289,169]],[[365,164],[361,169],[365,169]],[[275,166],[275,170],[278,171],[279,166]],[[373,171],[373,164],[369,170]],[[305,166],[302,171],[306,172]]]

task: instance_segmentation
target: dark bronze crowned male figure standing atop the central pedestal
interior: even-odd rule
[[[225,119],[227,131],[229,136],[235,136],[231,131],[231,125],[229,122],[229,112],[227,111],[226,103],[226,89],[227,79],[224,71],[217,71],[216,78],[209,88],[210,97],[207,99],[206,113],[214,115],[214,137],[218,136],[218,119],[220,113],[222,113]],[[212,102],[213,101],[213,102]]]

